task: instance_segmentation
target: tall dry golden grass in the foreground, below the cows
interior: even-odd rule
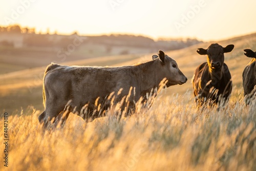
[[[151,109],[121,121],[110,115],[85,123],[71,115],[62,128],[42,133],[40,112],[28,108],[8,118],[8,169],[256,170],[255,111],[240,89],[220,111],[197,110],[187,92],[158,97]]]

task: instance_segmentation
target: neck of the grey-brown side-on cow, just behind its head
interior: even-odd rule
[[[140,92],[145,95],[151,92],[153,88],[158,87],[159,83],[162,81],[161,78],[161,65],[159,65],[159,60],[152,60],[146,63],[142,63],[139,67],[138,78],[140,81]]]

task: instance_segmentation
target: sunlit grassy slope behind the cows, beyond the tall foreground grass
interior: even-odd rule
[[[243,55],[243,49],[250,48],[256,50],[256,34],[240,36],[228,40],[219,41],[222,46],[234,44],[232,52],[225,54],[225,62],[227,63],[232,75],[233,85],[238,88],[242,84],[242,72],[244,67],[250,61],[249,58]],[[174,58],[180,70],[187,76],[188,81],[182,86],[173,86],[164,91],[165,95],[173,93],[183,94],[186,91],[191,91],[190,80],[193,77],[194,70],[200,63],[206,61],[206,56],[199,55],[196,50],[198,48],[207,48],[210,42],[198,44],[185,49],[166,51],[165,53]],[[5,49],[5,51],[7,51]],[[19,50],[11,51],[11,56],[8,56],[9,65],[7,74],[0,75],[0,109],[12,113],[20,108],[27,108],[28,105],[33,105],[38,110],[43,110],[42,106],[42,78],[48,63],[51,61],[47,58],[37,57],[40,54],[38,49],[27,49],[27,55],[32,53],[35,56],[34,60],[41,62],[37,63],[36,68],[32,68],[33,61],[26,59],[26,53],[20,54]],[[2,51],[3,52],[3,51]],[[23,51],[24,52],[24,51]],[[49,52],[52,53],[52,52]],[[75,53],[75,52],[74,52]],[[156,54],[155,52],[154,54]],[[35,55],[38,54],[38,55]],[[3,55],[3,54],[2,54]],[[94,57],[82,60],[72,60],[67,62],[59,62],[63,65],[81,65],[81,66],[123,66],[133,65],[137,62],[145,62],[152,60],[153,54],[131,54],[131,55],[114,55],[104,57]],[[51,56],[51,55],[50,55]],[[3,70],[3,68],[2,68]],[[17,71],[19,70],[19,71]],[[3,72],[2,72],[3,73]]]

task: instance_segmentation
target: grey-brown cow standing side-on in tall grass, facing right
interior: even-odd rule
[[[60,120],[63,123],[72,111],[82,114],[86,120],[101,117],[111,103],[116,104],[129,93],[130,98],[126,101],[132,109],[141,97],[144,101],[147,93],[158,88],[164,78],[166,87],[187,81],[176,61],[163,51],[152,57],[152,61],[122,67],[77,67],[52,63],[44,76],[45,111],[38,117],[39,122],[47,126],[54,118],[55,123]],[[111,101],[111,96],[115,97],[114,101]]]

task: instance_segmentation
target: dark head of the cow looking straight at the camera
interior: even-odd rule
[[[219,44],[211,44],[208,49],[199,48],[197,53],[207,55],[208,66],[211,69],[220,69],[224,63],[224,53],[231,52],[234,45],[228,45],[225,48]]]

